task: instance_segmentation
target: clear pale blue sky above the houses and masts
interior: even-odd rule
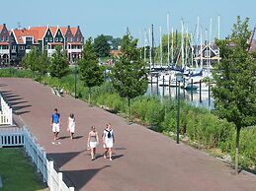
[[[256,25],[256,0],[12,0],[1,3],[0,24],[11,29],[29,26],[80,26],[84,36],[110,34],[123,36],[127,28],[132,36],[143,41],[143,32],[154,25],[155,38],[170,28],[181,30],[183,19],[190,32],[195,32],[197,18],[203,31],[210,29],[213,18],[213,37],[217,35],[217,16],[220,15],[220,37],[231,32],[239,15],[250,18],[251,29]],[[142,43],[142,42],[141,42]]]

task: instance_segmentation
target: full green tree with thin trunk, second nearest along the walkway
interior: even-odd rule
[[[112,69],[112,83],[120,96],[128,98],[128,122],[130,99],[144,95],[147,89],[145,63],[141,60],[137,39],[128,34],[122,39],[121,55]]]

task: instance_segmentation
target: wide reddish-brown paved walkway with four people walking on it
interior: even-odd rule
[[[29,127],[59,169],[77,190],[90,191],[255,191],[252,175],[232,175],[225,163],[140,125],[127,125],[125,119],[97,107],[89,107],[71,96],[58,97],[29,79],[0,79],[0,90],[9,99],[18,123]],[[60,145],[52,145],[50,113],[61,113]],[[77,117],[76,139],[66,131],[67,117]],[[92,125],[103,131],[111,122],[116,134],[113,161],[101,156],[90,160],[86,151]],[[100,154],[102,148],[98,149]]]

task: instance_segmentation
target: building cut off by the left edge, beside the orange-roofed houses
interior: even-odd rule
[[[0,64],[10,61],[9,34],[6,25],[0,25]]]

